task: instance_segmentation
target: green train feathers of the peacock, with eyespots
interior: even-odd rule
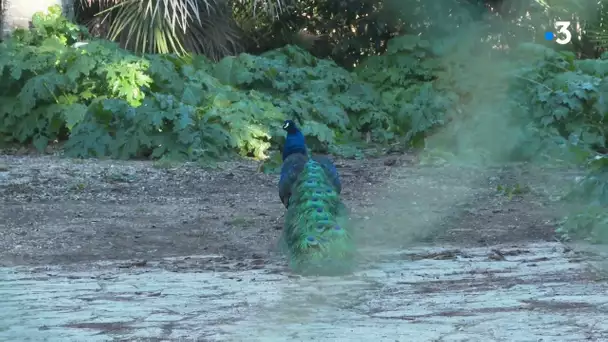
[[[348,210],[327,165],[306,159],[291,166],[299,174],[291,186],[283,229],[290,266],[302,274],[349,273],[354,267],[354,242]]]

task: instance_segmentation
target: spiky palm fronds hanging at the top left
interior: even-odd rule
[[[242,50],[236,8],[249,18],[274,20],[293,0],[80,0],[95,16],[91,32],[138,53],[202,53],[217,60]],[[262,19],[264,18],[264,19]]]

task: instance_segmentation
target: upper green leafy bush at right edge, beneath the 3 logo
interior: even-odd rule
[[[524,101],[516,104],[514,117],[533,122],[544,131],[543,139],[563,147],[605,148],[608,61],[575,60],[569,52],[534,44],[522,45],[517,56],[512,97]]]

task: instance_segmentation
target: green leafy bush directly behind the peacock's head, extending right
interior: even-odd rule
[[[366,116],[389,115],[382,112],[380,96],[371,85],[296,46],[225,58],[213,75],[240,90],[262,92],[264,99],[302,124],[317,149],[352,140],[353,133],[366,130]]]

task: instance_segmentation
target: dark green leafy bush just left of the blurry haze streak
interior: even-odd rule
[[[381,92],[381,108],[389,115],[368,111],[359,124],[383,141],[424,138],[456,109],[454,93],[441,92],[435,83],[439,70],[428,41],[409,35],[390,40],[384,55],[369,57],[356,69],[361,80]]]

